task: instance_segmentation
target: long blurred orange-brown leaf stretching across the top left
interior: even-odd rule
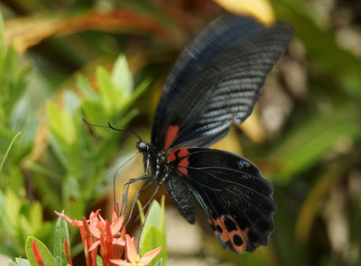
[[[167,40],[171,36],[161,23],[152,18],[127,10],[116,10],[108,13],[90,11],[75,16],[15,18],[5,22],[5,41],[23,53],[53,35],[67,35],[87,30],[116,32],[121,29],[150,32]]]

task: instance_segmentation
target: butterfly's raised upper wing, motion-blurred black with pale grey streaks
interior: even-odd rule
[[[234,14],[209,23],[171,69],[155,114],[152,143],[163,149],[170,126],[177,126],[171,147],[206,147],[222,138],[232,121],[242,123],[292,34],[289,23],[268,28]]]

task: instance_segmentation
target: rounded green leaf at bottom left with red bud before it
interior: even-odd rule
[[[32,251],[32,241],[35,241],[37,244],[40,253],[42,254],[42,261],[46,266],[57,266],[55,263],[54,257],[51,255],[51,252],[46,247],[44,243],[42,243],[39,239],[29,236],[25,243],[25,252],[26,256],[32,266],[39,266],[38,262],[35,261],[35,257]]]

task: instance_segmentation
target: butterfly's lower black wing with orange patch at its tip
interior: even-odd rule
[[[220,243],[235,252],[265,245],[273,232],[275,205],[273,189],[255,164],[227,151],[187,151],[174,159],[175,164],[187,160],[178,164],[178,175],[208,215]]]

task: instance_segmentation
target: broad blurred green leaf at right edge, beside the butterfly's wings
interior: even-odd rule
[[[353,139],[361,134],[358,116],[347,108],[334,108],[331,113],[316,115],[312,120],[284,139],[271,158],[277,158],[279,166],[274,175],[277,181],[285,182],[310,169],[339,140]]]

